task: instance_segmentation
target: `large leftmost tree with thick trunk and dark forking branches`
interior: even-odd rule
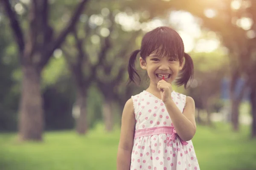
[[[32,0],[30,2],[27,33],[22,31],[11,2],[9,0],[0,1],[9,18],[22,65],[23,79],[19,111],[20,140],[42,140],[44,111],[40,89],[41,71],[49,62],[52,53],[64,42],[67,34],[76,24],[87,1],[81,0],[70,18],[70,22],[56,39],[53,37],[53,29],[49,25],[48,0]],[[27,38],[24,38],[25,35]]]

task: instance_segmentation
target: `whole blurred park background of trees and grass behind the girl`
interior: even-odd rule
[[[114,170],[143,35],[192,56],[201,170],[256,170],[255,0],[0,0],[0,170]],[[138,60],[137,60],[138,61]],[[138,67],[139,69],[139,67]],[[145,73],[140,72],[141,75]]]

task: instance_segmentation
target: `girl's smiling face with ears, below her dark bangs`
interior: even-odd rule
[[[148,72],[150,82],[157,84],[161,79],[172,83],[182,69],[180,62],[176,57],[160,56],[151,53],[145,60],[140,57],[140,67]]]

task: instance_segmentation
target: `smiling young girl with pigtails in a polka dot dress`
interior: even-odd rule
[[[129,82],[135,82],[135,76],[140,79],[134,66],[139,52],[150,85],[125,104],[117,170],[199,170],[191,141],[195,103],[172,89],[174,81],[187,88],[193,77],[193,62],[182,39],[168,27],[145,34],[140,50],[131,54]]]

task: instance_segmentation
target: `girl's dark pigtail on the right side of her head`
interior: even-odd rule
[[[193,79],[194,64],[189,54],[184,53],[184,58],[185,64],[180,71],[179,78],[177,79],[177,85],[184,85],[185,88],[188,88]]]

